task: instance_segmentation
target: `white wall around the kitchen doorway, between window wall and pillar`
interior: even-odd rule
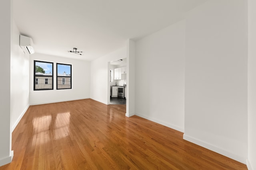
[[[108,104],[110,96],[108,62],[123,58],[126,58],[126,47],[91,61],[91,99]]]

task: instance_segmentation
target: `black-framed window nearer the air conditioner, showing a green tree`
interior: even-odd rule
[[[34,60],[34,90],[53,90],[53,63]]]

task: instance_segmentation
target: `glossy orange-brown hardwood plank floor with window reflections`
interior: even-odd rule
[[[179,131],[125,117],[125,107],[91,99],[30,106],[12,133],[13,161],[0,170],[247,169]]]

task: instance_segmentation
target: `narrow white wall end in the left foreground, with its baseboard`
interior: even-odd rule
[[[0,57],[1,57],[1,88],[0,88],[0,166],[12,161],[11,125],[10,125],[10,56],[12,34],[12,0],[0,1]]]

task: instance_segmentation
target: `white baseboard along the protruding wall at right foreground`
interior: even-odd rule
[[[194,143],[196,145],[199,145],[201,147],[204,147],[206,149],[209,149],[209,150],[212,150],[214,152],[217,152],[219,154],[222,154],[224,156],[227,156],[228,158],[234,159],[234,160],[236,160],[238,162],[241,162],[243,164],[246,164],[246,158],[244,158],[244,157],[242,157],[240,155],[234,154],[232,152],[229,152],[228,150],[224,150],[224,149],[216,147],[216,146],[214,146],[214,145],[212,145],[210,143],[206,143],[206,142],[201,141],[199,139],[196,139],[194,137],[188,136],[185,133],[183,135],[183,139],[186,140],[186,141],[192,142],[192,143]]]

